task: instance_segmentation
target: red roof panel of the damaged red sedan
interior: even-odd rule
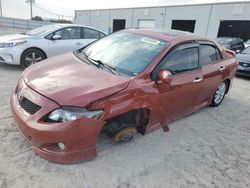
[[[160,40],[168,41],[168,42],[178,42],[178,41],[192,41],[192,40],[206,40],[212,41],[211,39],[196,35],[186,31],[179,30],[164,30],[164,29],[126,29],[124,31],[129,31],[133,33],[138,33],[142,35],[146,35],[149,37],[154,37]]]

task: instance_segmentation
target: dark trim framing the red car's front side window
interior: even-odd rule
[[[180,75],[180,74],[183,74],[183,73],[186,73],[186,72],[189,72],[189,71],[194,71],[194,70],[200,69],[201,66],[200,66],[200,59],[199,59],[199,57],[200,57],[199,43],[197,43],[196,41],[186,41],[184,43],[177,44],[172,49],[168,50],[168,52],[164,55],[164,57],[159,61],[159,63],[155,66],[154,70],[151,72],[151,75],[150,75],[151,79],[154,80],[154,81],[157,81],[158,73],[161,71],[161,68],[164,65],[163,60],[165,58],[166,58],[166,61],[168,61],[168,59],[171,57],[171,55],[173,53],[175,53],[176,51],[178,52],[180,50],[184,50],[184,49],[188,49],[188,48],[197,48],[198,67],[193,69],[193,70],[188,70],[188,71],[184,71],[184,72],[174,74],[173,76]]]

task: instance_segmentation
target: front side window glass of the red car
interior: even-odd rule
[[[176,74],[197,69],[198,67],[198,48],[192,47],[173,53],[170,57],[168,57],[168,60],[163,65],[161,70],[167,69]]]

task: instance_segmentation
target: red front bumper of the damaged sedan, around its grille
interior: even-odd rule
[[[96,141],[104,121],[81,118],[65,123],[44,122],[41,118],[59,105],[27,86],[22,88],[24,97],[41,106],[41,109],[33,115],[28,114],[18,105],[14,91],[11,96],[11,111],[18,128],[32,144],[35,153],[49,161],[63,164],[96,157]],[[61,150],[58,143],[64,143],[65,149]]]

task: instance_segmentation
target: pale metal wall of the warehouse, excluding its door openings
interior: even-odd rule
[[[250,3],[218,3],[149,8],[77,10],[75,21],[105,32],[113,31],[113,19],[125,19],[126,28],[138,27],[139,20],[155,20],[156,28],[171,29],[172,20],[196,20],[194,33],[216,38],[221,20],[249,20]]]

